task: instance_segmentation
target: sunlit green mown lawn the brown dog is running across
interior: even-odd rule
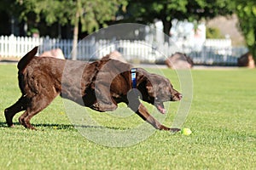
[[[175,73],[162,70],[173,79]],[[3,111],[20,97],[15,65],[0,65],[0,169],[256,169],[256,70],[192,71],[194,98],[184,136],[155,131],[131,147],[112,148],[85,139],[72,126],[61,98],[32,118],[38,131],[5,124]],[[172,103],[165,125],[171,125]],[[89,109],[85,109],[89,111]],[[136,115],[113,120],[91,111],[99,122],[129,128]],[[114,124],[113,124],[114,122]]]

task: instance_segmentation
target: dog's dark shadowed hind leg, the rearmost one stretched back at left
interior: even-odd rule
[[[20,99],[9,108],[4,110],[5,120],[9,127],[14,127],[13,117],[20,111],[25,111],[27,106],[27,99],[25,96],[21,96]]]

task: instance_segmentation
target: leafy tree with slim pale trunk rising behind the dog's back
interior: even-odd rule
[[[48,25],[55,22],[72,25],[73,56],[76,59],[79,23],[82,31],[96,31],[107,26],[106,21],[114,20],[115,14],[125,0],[17,0],[20,4],[20,18],[27,20],[34,17],[36,21],[45,20]]]

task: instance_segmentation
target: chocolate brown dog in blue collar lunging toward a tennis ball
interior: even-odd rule
[[[182,99],[182,94],[172,88],[166,77],[141,68],[131,72],[131,65],[108,56],[86,63],[36,57],[37,51],[38,47],[33,48],[18,63],[21,97],[4,111],[9,127],[14,127],[15,114],[25,111],[19,122],[26,128],[35,129],[30,123],[32,116],[44,110],[60,94],[64,99],[95,111],[114,111],[117,104],[125,102],[153,127],[172,132],[180,130],[162,125],[140,101],[155,105],[160,113],[165,113],[164,102]]]

